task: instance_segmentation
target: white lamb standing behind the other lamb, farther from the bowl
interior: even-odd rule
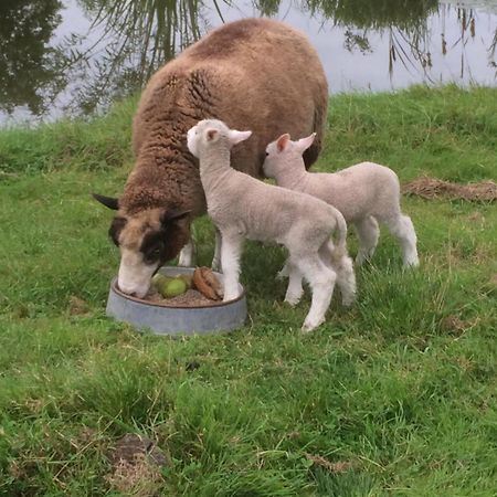
[[[311,194],[336,207],[357,230],[357,264],[371,258],[378,244],[378,221],[387,225],[402,246],[405,266],[417,266],[416,233],[411,219],[400,208],[398,176],[389,168],[361,162],[335,173],[306,171],[304,151],[311,146],[314,134],[292,141],[282,135],[266,148],[264,172],[289,190]],[[287,275],[284,267],[281,276]]]

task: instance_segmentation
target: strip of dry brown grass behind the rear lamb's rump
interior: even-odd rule
[[[497,183],[482,181],[479,183],[451,183],[436,178],[417,178],[404,183],[403,193],[422,197],[423,199],[448,198],[469,202],[494,202],[497,200]]]

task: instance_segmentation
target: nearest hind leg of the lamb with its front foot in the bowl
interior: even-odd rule
[[[331,302],[337,275],[335,271],[322,263],[317,254],[314,257],[307,256],[296,260],[295,263],[307,282],[309,282],[313,293],[310,309],[302,327],[304,332],[308,332],[324,322],[325,314]]]

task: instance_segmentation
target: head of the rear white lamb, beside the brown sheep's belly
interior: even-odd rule
[[[290,136],[285,133],[277,140],[272,141],[266,147],[266,158],[263,170],[267,178],[277,179],[282,172],[302,167],[305,169],[303,155],[313,145],[316,134],[292,141]]]

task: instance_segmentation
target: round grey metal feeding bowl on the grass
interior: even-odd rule
[[[166,276],[193,274],[193,267],[162,266],[159,273]],[[220,273],[214,273],[221,278]],[[240,285],[240,295],[230,302],[213,302],[209,306],[168,306],[126,295],[117,287],[117,278],[110,283],[107,316],[129,322],[138,330],[150,330],[155,335],[204,335],[231,331],[243,326],[246,319],[245,290]]]

